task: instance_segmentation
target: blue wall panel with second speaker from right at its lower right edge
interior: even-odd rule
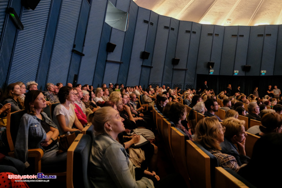
[[[200,35],[199,54],[197,61],[197,74],[209,74],[207,67],[211,60],[214,25],[203,25]],[[211,36],[208,33],[212,33]]]

